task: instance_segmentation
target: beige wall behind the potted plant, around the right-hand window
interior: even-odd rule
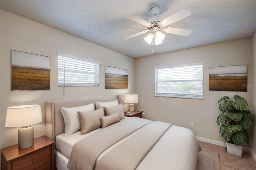
[[[154,67],[198,62],[204,63],[203,100],[154,97]],[[146,119],[190,128],[196,136],[222,142],[224,140],[216,124],[220,114],[218,100],[225,95],[240,95],[248,100],[252,110],[255,109],[251,95],[254,87],[248,87],[248,92],[209,91],[209,67],[228,65],[248,65],[248,84],[252,83],[251,38],[136,59],[137,108],[144,111],[143,117]],[[194,123],[194,127],[190,127],[190,122]]]

